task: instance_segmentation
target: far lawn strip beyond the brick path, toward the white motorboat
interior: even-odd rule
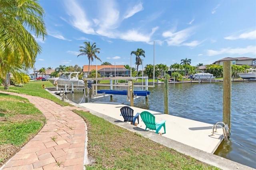
[[[63,102],[54,95],[48,93],[48,91],[42,88],[42,85],[45,85],[46,87],[54,87],[54,85],[52,85],[52,83],[50,83],[49,81],[30,81],[29,83],[24,84],[23,87],[9,86],[8,91],[42,97],[44,99],[54,101],[61,106],[71,106],[69,103]],[[0,86],[0,90],[3,89],[4,87]]]

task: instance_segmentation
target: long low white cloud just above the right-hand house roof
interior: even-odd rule
[[[214,51],[212,49],[208,49],[207,55],[212,56],[212,55],[219,55],[219,54],[238,54],[238,55],[243,55],[246,53],[252,53],[256,55],[256,46],[249,45],[245,48],[222,48],[220,51]]]

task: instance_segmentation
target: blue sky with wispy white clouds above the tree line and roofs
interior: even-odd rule
[[[40,0],[48,36],[35,68],[88,65],[77,57],[83,42],[96,42],[102,62],[130,65],[145,51],[143,66],[168,67],[191,59],[211,64],[224,57],[256,57],[255,0]],[[101,64],[97,61],[98,65]],[[132,56],[132,67],[135,67]],[[92,64],[96,64],[96,60]],[[142,65],[140,65],[142,69]]]

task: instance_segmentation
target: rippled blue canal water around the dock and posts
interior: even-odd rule
[[[109,87],[98,87],[109,89]],[[114,89],[114,87],[113,87]],[[116,90],[126,90],[116,87]],[[137,87],[134,90],[142,90]],[[164,113],[164,85],[148,88],[148,99],[134,100],[134,107]],[[223,141],[214,154],[256,168],[256,82],[232,82],[231,137]],[[84,103],[83,92],[69,93],[68,99]],[[116,102],[130,105],[126,96],[113,95],[89,102]],[[215,124],[223,121],[223,83],[175,83],[168,84],[168,110],[170,115]]]

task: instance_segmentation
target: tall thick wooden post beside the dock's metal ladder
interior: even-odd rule
[[[231,131],[231,61],[223,62],[223,122]]]

